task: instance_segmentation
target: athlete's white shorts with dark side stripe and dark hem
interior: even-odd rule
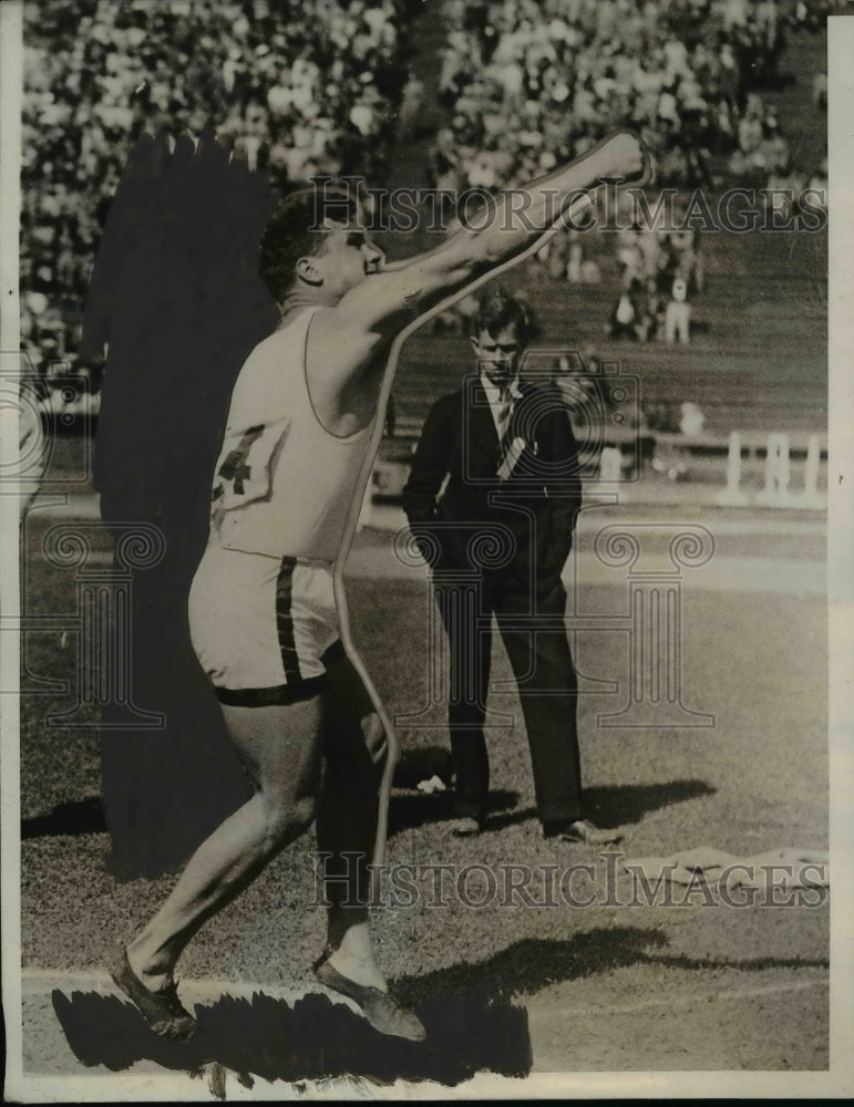
[[[208,546],[188,613],[193,648],[223,703],[306,700],[343,653],[326,562]]]

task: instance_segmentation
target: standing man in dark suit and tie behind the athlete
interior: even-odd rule
[[[487,811],[494,614],[519,692],[543,832],[603,844],[620,836],[583,817],[560,579],[582,500],[577,449],[557,392],[518,377],[528,332],[513,298],[481,301],[471,338],[477,370],[430,411],[403,508],[432,566],[450,642],[454,832],[479,832]]]

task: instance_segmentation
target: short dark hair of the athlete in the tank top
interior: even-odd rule
[[[261,235],[258,272],[280,303],[296,279],[297,262],[322,254],[326,217],[338,223],[358,219],[348,192],[335,186],[300,188],[286,196]]]

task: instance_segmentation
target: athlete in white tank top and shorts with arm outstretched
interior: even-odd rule
[[[253,797],[196,850],[154,918],[111,964],[156,1032],[195,1020],[175,964],[213,914],[312,823],[328,855],[328,945],[318,980],[381,1033],[419,1041],[389,994],[368,921],[389,743],[341,645],[333,591],[392,342],[424,312],[518,261],[605,179],[644,183],[641,141],[619,131],[572,164],[500,195],[442,246],[387,263],[352,208],[285,201],[261,240],[278,329],[244,364],[214,476],[210,535],[189,596],[193,643],[253,782]],[[358,661],[358,659],[357,659]],[[349,856],[348,856],[349,855]],[[353,857],[359,863],[352,863]],[[349,862],[349,863],[348,863]]]

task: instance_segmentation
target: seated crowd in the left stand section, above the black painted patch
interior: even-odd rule
[[[140,133],[213,123],[280,182],[370,176],[405,99],[418,0],[78,0],[24,8],[21,324],[74,368],[94,252]]]

